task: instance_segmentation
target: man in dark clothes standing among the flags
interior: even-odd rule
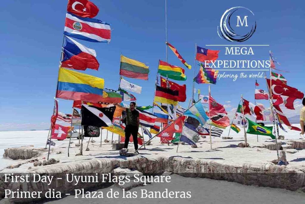
[[[130,103],[130,108],[126,108],[126,128],[124,148],[128,148],[129,137],[132,135],[135,150],[138,149],[138,130],[139,130],[139,112],[135,110],[135,102]]]

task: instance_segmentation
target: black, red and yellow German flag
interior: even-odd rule
[[[156,85],[155,102],[178,105],[178,91],[163,88]]]

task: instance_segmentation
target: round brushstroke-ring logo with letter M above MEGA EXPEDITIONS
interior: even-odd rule
[[[221,16],[220,25],[217,26],[218,36],[230,42],[244,42],[255,30],[254,13],[242,6],[227,9]]]

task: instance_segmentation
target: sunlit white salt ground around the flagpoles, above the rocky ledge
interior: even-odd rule
[[[296,124],[295,126],[299,126]],[[286,127],[285,127],[286,128]],[[298,131],[291,131],[286,128],[288,131],[283,132],[280,130],[280,135],[284,135],[285,139],[280,140],[285,142],[286,139],[300,139],[300,135]],[[228,135],[229,128],[225,129],[222,136]],[[0,146],[0,151],[9,147],[20,147],[23,145],[34,145],[34,147],[45,147],[46,135],[48,131],[23,131],[23,132],[0,132],[0,138],[4,143]],[[95,143],[89,143],[89,151],[85,151],[88,138],[84,139],[84,148],[82,156],[75,156],[75,154],[79,153],[79,147],[75,147],[75,143],[78,143],[77,139],[72,139],[74,142],[70,146],[70,157],[67,157],[67,147],[69,144],[69,140],[66,139],[64,141],[57,141],[56,146],[51,146],[51,149],[54,150],[50,155],[50,158],[59,158],[60,162],[71,162],[71,161],[86,161],[90,158],[125,158],[119,155],[118,150],[112,150],[111,143],[104,143],[104,139],[106,139],[107,132],[106,130],[102,131],[102,143],[101,137],[94,138]],[[177,146],[167,146],[167,144],[160,144],[160,138],[156,137],[152,139],[152,145],[146,146],[146,148],[142,148],[139,150],[140,156],[147,158],[157,158],[160,156],[170,157],[170,156],[181,156],[184,158],[200,158],[206,160],[216,161],[220,164],[234,164],[234,165],[243,165],[245,163],[251,164],[253,166],[261,166],[273,159],[277,158],[275,150],[268,150],[265,148],[239,148],[237,144],[243,142],[243,130],[237,134],[234,131],[230,131],[230,136],[233,139],[221,139],[219,137],[212,138],[212,148],[210,150],[209,137],[205,139],[200,139],[197,143],[198,148],[191,148],[189,145],[179,145],[178,153],[176,153]],[[111,141],[112,133],[108,133],[108,140]],[[268,144],[271,141],[268,136],[258,135],[247,135],[248,143],[251,147]],[[113,140],[117,140],[118,135],[113,135]],[[145,136],[145,141],[149,138]],[[129,148],[133,149],[133,144],[129,144]],[[57,151],[61,151],[62,154],[55,154]],[[305,167],[305,150],[300,150],[295,154],[286,153],[287,161],[289,161],[289,167],[297,167],[304,168]],[[42,156],[47,156],[47,152],[43,153]],[[39,157],[39,159],[42,158]],[[19,162],[18,160],[11,159],[1,159],[0,166],[1,168]],[[59,164],[54,164],[59,165]],[[27,168],[33,164],[27,163],[21,165],[17,169],[5,169],[5,171],[24,171],[27,172]],[[34,167],[39,168],[39,167]],[[32,170],[34,170],[32,169]]]

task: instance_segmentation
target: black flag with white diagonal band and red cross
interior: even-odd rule
[[[81,125],[90,125],[99,128],[111,126],[115,109],[116,106],[98,108],[82,104]]]

